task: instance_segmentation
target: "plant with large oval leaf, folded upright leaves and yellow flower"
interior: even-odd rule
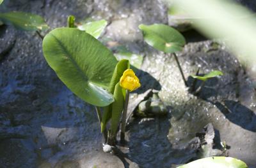
[[[74,19],[68,17],[69,27],[74,27]],[[106,26],[106,22],[101,23]],[[96,107],[101,132],[108,144],[115,145],[122,111],[123,121],[126,118],[129,101],[126,90],[140,87],[140,81],[129,69],[129,60],[118,62],[113,53],[96,39],[101,34],[98,30],[102,30],[99,22],[95,27],[92,25],[85,31],[69,27],[54,29],[44,38],[43,52],[60,80],[83,101]],[[104,109],[103,116],[100,107]],[[109,120],[111,127],[107,132]]]

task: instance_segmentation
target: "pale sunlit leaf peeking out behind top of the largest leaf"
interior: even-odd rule
[[[94,38],[99,38],[100,34],[102,34],[107,24],[108,22],[106,20],[99,20],[94,22],[88,22],[84,25],[78,26],[77,28],[81,31],[86,31]]]

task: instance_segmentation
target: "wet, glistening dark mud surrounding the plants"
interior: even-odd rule
[[[122,155],[102,152],[93,106],[72,94],[42,55],[42,42],[31,32],[0,27],[0,164],[3,167],[175,167],[198,157],[189,144],[212,123],[230,157],[255,167],[256,106],[254,76],[234,55],[212,41],[188,43],[178,57],[185,76],[212,69],[224,76],[207,81],[199,95],[188,92],[172,56],[145,45],[138,25],[168,24],[161,1],[6,1],[1,11],[42,15],[52,27],[77,20],[104,18],[111,38],[144,55],[137,73],[142,87],[159,90],[168,115],[132,118]],[[104,41],[102,38],[102,41]],[[3,45],[4,44],[4,45]],[[7,52],[6,52],[7,51]],[[249,75],[250,74],[250,75]],[[188,78],[191,83],[192,79]],[[131,98],[131,100],[135,100]]]

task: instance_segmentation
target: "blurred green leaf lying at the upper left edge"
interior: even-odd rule
[[[49,28],[44,18],[22,11],[0,13],[0,20],[4,24],[14,25],[22,31],[45,31]]]

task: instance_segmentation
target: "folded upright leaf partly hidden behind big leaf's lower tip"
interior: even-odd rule
[[[111,94],[114,94],[116,83],[120,81],[120,78],[123,75],[124,71],[126,69],[129,69],[129,67],[130,67],[129,60],[120,60],[118,64],[116,64],[115,71],[113,73],[111,82],[109,84],[109,92]],[[101,122],[101,132],[103,132],[106,129],[106,124],[108,123],[108,121],[112,116],[113,107],[111,105],[104,108],[104,113],[103,113],[102,122]]]

